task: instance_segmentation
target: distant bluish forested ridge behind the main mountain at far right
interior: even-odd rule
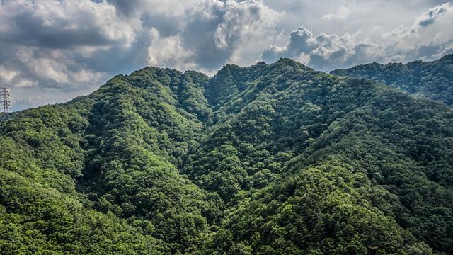
[[[331,74],[373,79],[453,106],[453,54],[432,62],[362,64],[349,69],[336,69]]]

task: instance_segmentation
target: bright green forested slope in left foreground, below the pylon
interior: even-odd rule
[[[1,123],[2,254],[162,254],[163,242],[76,192],[88,122],[73,107],[45,106]]]

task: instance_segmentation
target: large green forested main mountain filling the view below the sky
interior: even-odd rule
[[[452,123],[289,59],[118,75],[0,116],[0,251],[453,254]]]

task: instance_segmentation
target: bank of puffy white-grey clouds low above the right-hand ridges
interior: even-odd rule
[[[286,45],[266,47],[261,58],[273,62],[280,57],[291,57],[321,70],[368,62],[431,60],[452,48],[453,33],[446,27],[452,22],[453,5],[447,3],[422,13],[412,26],[391,31],[376,29],[375,36],[380,37],[377,42],[359,39],[360,32],[314,35],[311,28],[300,27],[292,31]]]

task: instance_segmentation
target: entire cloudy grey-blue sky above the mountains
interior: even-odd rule
[[[147,66],[214,75],[290,57],[329,71],[453,53],[439,0],[0,0],[0,86],[14,111]]]

